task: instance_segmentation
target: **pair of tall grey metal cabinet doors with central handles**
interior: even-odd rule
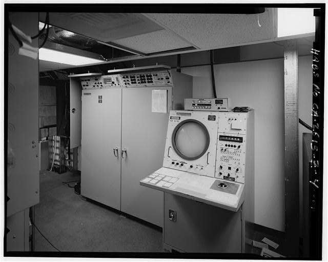
[[[152,112],[152,91],[167,90],[167,113]],[[163,193],[139,185],[160,168],[172,87],[82,91],[81,194],[162,226]]]

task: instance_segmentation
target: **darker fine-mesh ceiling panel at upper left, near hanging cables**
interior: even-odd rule
[[[163,28],[138,13],[49,13],[51,24],[101,42],[145,34]],[[46,13],[40,13],[45,21]]]

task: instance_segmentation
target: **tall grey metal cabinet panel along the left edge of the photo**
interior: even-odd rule
[[[38,33],[38,13],[10,12],[10,21],[28,35]],[[7,216],[39,203],[38,165],[38,60],[19,55],[19,45],[8,30],[8,161]],[[31,44],[38,46],[38,38]],[[6,65],[7,66],[7,65]],[[6,77],[6,76],[5,76]],[[7,95],[7,96],[6,96]],[[5,103],[6,106],[6,103]],[[5,108],[6,112],[6,108]],[[7,122],[8,121],[8,122]],[[5,126],[6,128],[6,126]]]

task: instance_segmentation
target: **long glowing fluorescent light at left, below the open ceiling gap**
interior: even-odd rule
[[[39,60],[50,61],[50,62],[72,65],[72,66],[82,66],[82,65],[104,62],[103,60],[100,59],[65,53],[48,48],[39,49]]]

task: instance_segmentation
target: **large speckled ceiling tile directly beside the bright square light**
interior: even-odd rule
[[[274,37],[272,9],[265,9],[260,14],[145,15],[200,49],[214,49]]]

